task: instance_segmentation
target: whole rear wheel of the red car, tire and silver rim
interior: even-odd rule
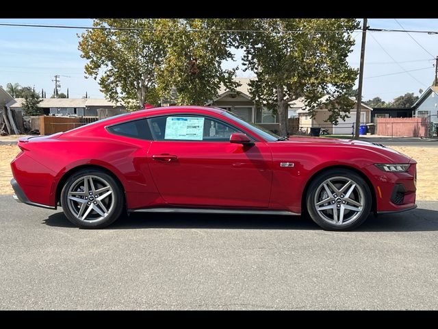
[[[66,180],[61,206],[68,220],[79,228],[105,228],[124,208],[123,188],[99,169],[83,169]]]

